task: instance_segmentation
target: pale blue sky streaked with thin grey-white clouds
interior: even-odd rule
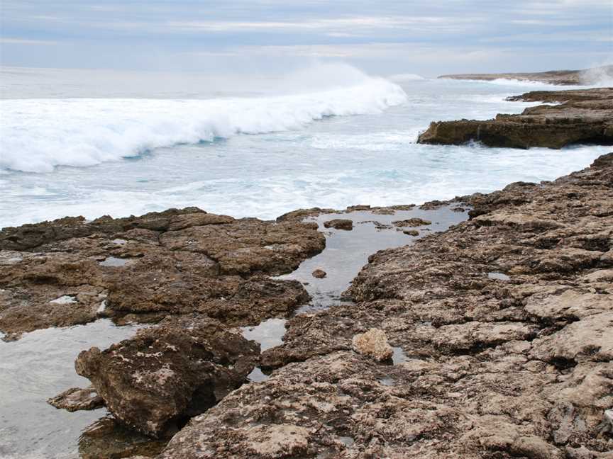
[[[1,0],[4,67],[374,74],[613,63],[612,0]]]

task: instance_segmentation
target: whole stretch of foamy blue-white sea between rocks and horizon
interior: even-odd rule
[[[198,206],[289,210],[422,203],[555,179],[610,147],[416,144],[433,120],[492,118],[558,87],[375,77],[321,64],[275,77],[3,69],[0,227]]]

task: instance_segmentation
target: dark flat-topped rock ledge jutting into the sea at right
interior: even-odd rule
[[[510,100],[560,104],[526,108],[520,115],[499,114],[493,120],[438,121],[417,142],[460,145],[474,140],[510,148],[613,144],[613,88],[535,91]]]

